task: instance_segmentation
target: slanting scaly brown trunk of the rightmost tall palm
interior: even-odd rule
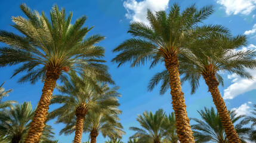
[[[218,114],[220,115],[221,122],[223,124],[223,128],[227,135],[227,139],[229,142],[241,142],[236,133],[236,129],[232,123],[232,120],[229,116],[229,111],[225,105],[223,98],[221,97],[220,91],[218,90],[218,80],[216,79],[215,75],[203,76],[205,79],[206,85],[208,85],[209,92],[211,92],[214,104],[217,108]]]

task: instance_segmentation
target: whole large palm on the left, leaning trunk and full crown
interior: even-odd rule
[[[85,71],[106,81],[110,81],[110,75],[102,64],[105,61],[100,60],[104,48],[94,46],[104,36],[85,38],[92,29],[82,27],[87,19],[85,15],[71,24],[72,13],[66,16],[65,9],[59,10],[57,5],[50,12],[50,20],[44,12],[32,11],[25,4],[20,8],[27,18],[13,17],[13,27],[23,35],[0,30],[0,42],[8,45],[0,48],[0,67],[21,64],[13,76],[21,72],[27,74],[19,82],[44,80],[41,99],[25,141],[32,143],[38,142],[42,135],[56,80],[63,73]]]

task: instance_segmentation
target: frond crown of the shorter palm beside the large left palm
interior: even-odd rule
[[[94,82],[94,81],[93,81]],[[64,85],[57,86],[62,95],[53,95],[51,104],[63,104],[48,114],[48,120],[57,117],[56,123],[70,123],[75,117],[75,110],[81,104],[85,104],[87,110],[91,108],[115,108],[119,106],[117,92],[118,86],[110,88],[107,84],[92,85],[84,76],[79,77],[75,73],[70,79],[64,79]],[[111,110],[110,110],[111,111]]]

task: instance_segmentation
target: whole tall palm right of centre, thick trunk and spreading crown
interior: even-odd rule
[[[178,55],[187,55],[190,51],[187,44],[206,33],[227,33],[221,26],[198,26],[213,13],[213,6],[209,5],[197,10],[191,5],[180,13],[177,4],[172,5],[169,14],[158,11],[153,14],[147,11],[150,26],[141,22],[132,22],[128,33],[133,38],[121,43],[113,52],[120,52],[113,62],[118,66],[131,62],[131,67],[140,66],[152,61],[150,68],[164,62],[168,70],[169,85],[171,86],[172,107],[177,121],[177,134],[180,142],[195,142],[187,117],[184,94],[181,90],[180,73],[178,71]]]

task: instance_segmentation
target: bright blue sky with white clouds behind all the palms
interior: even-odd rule
[[[164,108],[166,113],[172,111],[171,96],[169,92],[165,95],[159,95],[159,87],[152,92],[147,92],[147,84],[154,73],[162,71],[163,65],[159,65],[152,70],[149,70],[149,65],[135,67],[131,69],[129,64],[116,68],[116,64],[110,63],[115,57],[112,49],[118,46],[125,39],[131,38],[127,33],[129,23],[132,20],[146,21],[146,9],[152,11],[166,10],[169,5],[177,2],[181,8],[186,8],[190,4],[196,3],[198,7],[204,5],[215,5],[215,13],[212,14],[206,24],[222,24],[228,27],[233,35],[246,34],[248,35],[248,46],[243,48],[256,48],[256,2],[254,0],[211,0],[211,1],[189,1],[189,0],[79,0],[79,1],[0,1],[0,29],[17,33],[10,24],[12,16],[23,15],[19,5],[25,2],[32,10],[45,11],[49,13],[53,4],[58,7],[66,8],[66,11],[73,11],[72,23],[76,18],[82,15],[87,15],[85,26],[94,26],[88,35],[101,33],[106,36],[106,39],[100,45],[106,48],[107,65],[116,84],[121,86],[119,92],[122,97],[119,98],[121,103],[120,109],[123,114],[120,116],[121,123],[124,126],[126,135],[123,136],[123,141],[127,142],[129,136],[134,132],[129,130],[130,126],[138,126],[136,122],[137,114],[143,113],[145,110],[156,111],[159,108]],[[24,15],[23,15],[24,16]],[[31,101],[33,107],[38,103],[43,84],[37,82],[35,85],[24,83],[20,85],[17,80],[22,74],[10,79],[14,67],[5,67],[0,69],[0,83],[5,81],[5,89],[14,89],[10,96],[4,100],[16,100],[18,102]],[[249,71],[256,77],[256,71]],[[221,95],[223,95],[227,108],[236,110],[239,114],[249,114],[252,110],[252,105],[256,104],[256,80],[242,79],[236,75],[223,73],[224,87],[220,86]],[[194,95],[190,95],[190,87],[185,83],[183,92],[187,105],[187,114],[189,117],[199,117],[197,110],[203,107],[214,106],[211,95],[208,92],[205,82],[201,80],[201,86]],[[54,94],[57,90],[54,91]],[[58,107],[51,105],[50,110]],[[59,131],[63,128],[62,124],[53,124],[54,120],[49,122],[55,129],[55,139],[62,143],[72,142],[73,134],[69,136],[59,135]],[[193,122],[191,122],[193,124]],[[88,140],[88,133],[83,134],[82,141]],[[98,136],[97,142],[103,142],[101,135]]]

